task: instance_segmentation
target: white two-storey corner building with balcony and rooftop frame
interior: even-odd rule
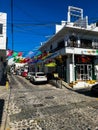
[[[55,70],[67,83],[98,78],[95,69],[98,64],[98,23],[89,25],[81,8],[68,7],[68,20],[56,25],[55,35],[40,50],[51,53],[40,68],[49,73],[50,68],[45,67],[45,62],[54,60]]]

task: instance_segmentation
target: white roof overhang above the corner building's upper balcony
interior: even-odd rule
[[[39,49],[41,50],[42,48],[46,48],[47,44],[51,44],[55,42],[56,40],[64,37],[66,34],[80,34],[85,38],[87,35],[93,35],[93,36],[98,36],[98,31],[93,31],[91,29],[85,29],[85,28],[80,28],[80,27],[69,27],[69,26],[64,26],[59,32],[57,32],[54,36],[52,36],[48,41],[46,41]]]

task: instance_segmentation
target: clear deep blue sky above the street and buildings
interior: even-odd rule
[[[7,49],[37,50],[67,20],[68,6],[82,8],[89,23],[98,21],[98,0],[0,0],[0,12],[7,13]]]

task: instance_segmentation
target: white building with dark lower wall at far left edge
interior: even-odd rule
[[[7,78],[7,57],[6,57],[6,49],[7,49],[7,14],[0,13],[0,84],[5,85]]]

